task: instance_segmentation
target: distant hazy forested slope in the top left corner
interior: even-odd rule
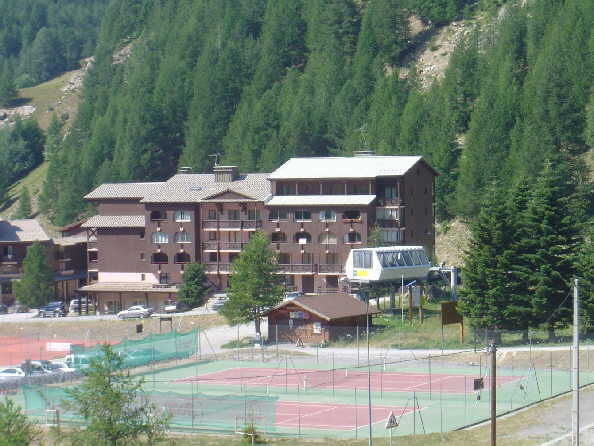
[[[0,105],[15,88],[78,68],[108,0],[0,0]]]

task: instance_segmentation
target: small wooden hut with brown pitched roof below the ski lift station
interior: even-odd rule
[[[369,326],[375,308],[369,308]],[[348,294],[300,296],[268,311],[268,339],[294,344],[322,344],[357,335],[366,327],[367,304]]]

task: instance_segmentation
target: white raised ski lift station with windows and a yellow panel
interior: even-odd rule
[[[431,260],[422,246],[353,249],[346,261],[351,282],[427,280]]]

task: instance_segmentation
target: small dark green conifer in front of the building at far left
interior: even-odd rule
[[[16,299],[31,308],[45,305],[54,297],[54,272],[47,262],[46,248],[38,242],[27,248],[23,276],[16,281]]]

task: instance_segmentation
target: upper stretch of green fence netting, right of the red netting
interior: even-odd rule
[[[151,334],[139,340],[124,340],[112,345],[120,356],[124,368],[140,367],[146,364],[172,359],[190,358],[198,353],[198,329],[187,333],[172,331]],[[72,346],[69,363],[76,369],[85,369],[91,359],[101,354],[100,346]]]

